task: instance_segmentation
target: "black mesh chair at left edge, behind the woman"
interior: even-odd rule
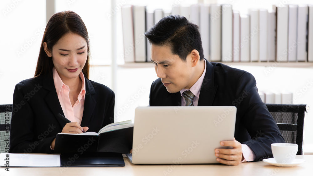
[[[0,105],[0,153],[8,153],[12,104]]]

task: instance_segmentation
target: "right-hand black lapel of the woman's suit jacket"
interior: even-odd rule
[[[93,97],[95,95],[95,88],[92,86],[91,82],[85,77],[86,93],[84,100],[84,112],[83,118],[81,120],[80,126],[85,127],[89,125],[90,118],[94,112],[96,106],[96,100]]]

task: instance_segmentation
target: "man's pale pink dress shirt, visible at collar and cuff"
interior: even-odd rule
[[[202,75],[200,76],[198,81],[195,84],[193,84],[193,86],[189,89],[195,95],[195,98],[193,99],[193,106],[198,106],[200,89],[202,86],[202,82],[203,82],[206,70],[207,70],[207,63],[204,62],[204,71]],[[188,89],[182,89],[180,91],[181,96],[182,96],[182,93],[185,92],[185,90],[188,90]],[[183,96],[182,96],[182,106],[186,106],[185,98]],[[253,161],[255,159],[255,154],[248,145],[241,144],[241,148],[242,148],[242,153],[244,155],[244,160],[242,160],[241,162]]]

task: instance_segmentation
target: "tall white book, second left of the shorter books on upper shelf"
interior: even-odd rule
[[[222,18],[220,15],[221,6],[218,4],[212,4],[210,9],[210,52],[211,62],[221,61],[221,22]]]

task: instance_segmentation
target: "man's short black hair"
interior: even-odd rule
[[[172,54],[186,61],[193,49],[198,50],[200,60],[204,58],[199,27],[184,16],[169,15],[160,19],[145,33],[149,42],[156,46],[170,46]]]

